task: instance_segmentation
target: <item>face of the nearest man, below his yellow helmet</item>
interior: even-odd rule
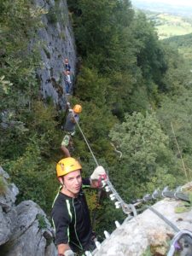
[[[64,185],[68,191],[70,191],[73,195],[79,193],[82,184],[81,171],[77,170],[74,172],[70,172],[64,176]]]

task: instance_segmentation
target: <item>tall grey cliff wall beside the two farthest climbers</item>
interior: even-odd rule
[[[59,108],[66,106],[64,65],[67,58],[71,66],[71,79],[75,75],[77,62],[73,29],[69,20],[67,1],[33,0],[34,5],[43,7],[43,26],[38,29],[35,41],[41,44],[42,67],[38,68],[41,95],[51,97]]]

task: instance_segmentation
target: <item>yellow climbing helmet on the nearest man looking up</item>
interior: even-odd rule
[[[70,172],[81,170],[82,166],[79,164],[78,160],[75,160],[73,157],[67,157],[61,159],[56,165],[56,174],[57,177],[61,177]]]

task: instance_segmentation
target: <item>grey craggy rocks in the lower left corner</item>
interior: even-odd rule
[[[1,256],[56,256],[53,230],[44,211],[33,201],[15,206],[18,189],[1,167],[0,177],[4,184],[0,195]]]

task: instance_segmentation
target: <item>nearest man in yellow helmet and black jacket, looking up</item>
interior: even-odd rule
[[[59,256],[73,256],[95,249],[83,188],[98,188],[99,179],[106,177],[106,172],[102,166],[97,166],[90,178],[82,178],[81,169],[79,161],[72,157],[60,160],[56,166],[61,190],[55,198],[51,216]]]

